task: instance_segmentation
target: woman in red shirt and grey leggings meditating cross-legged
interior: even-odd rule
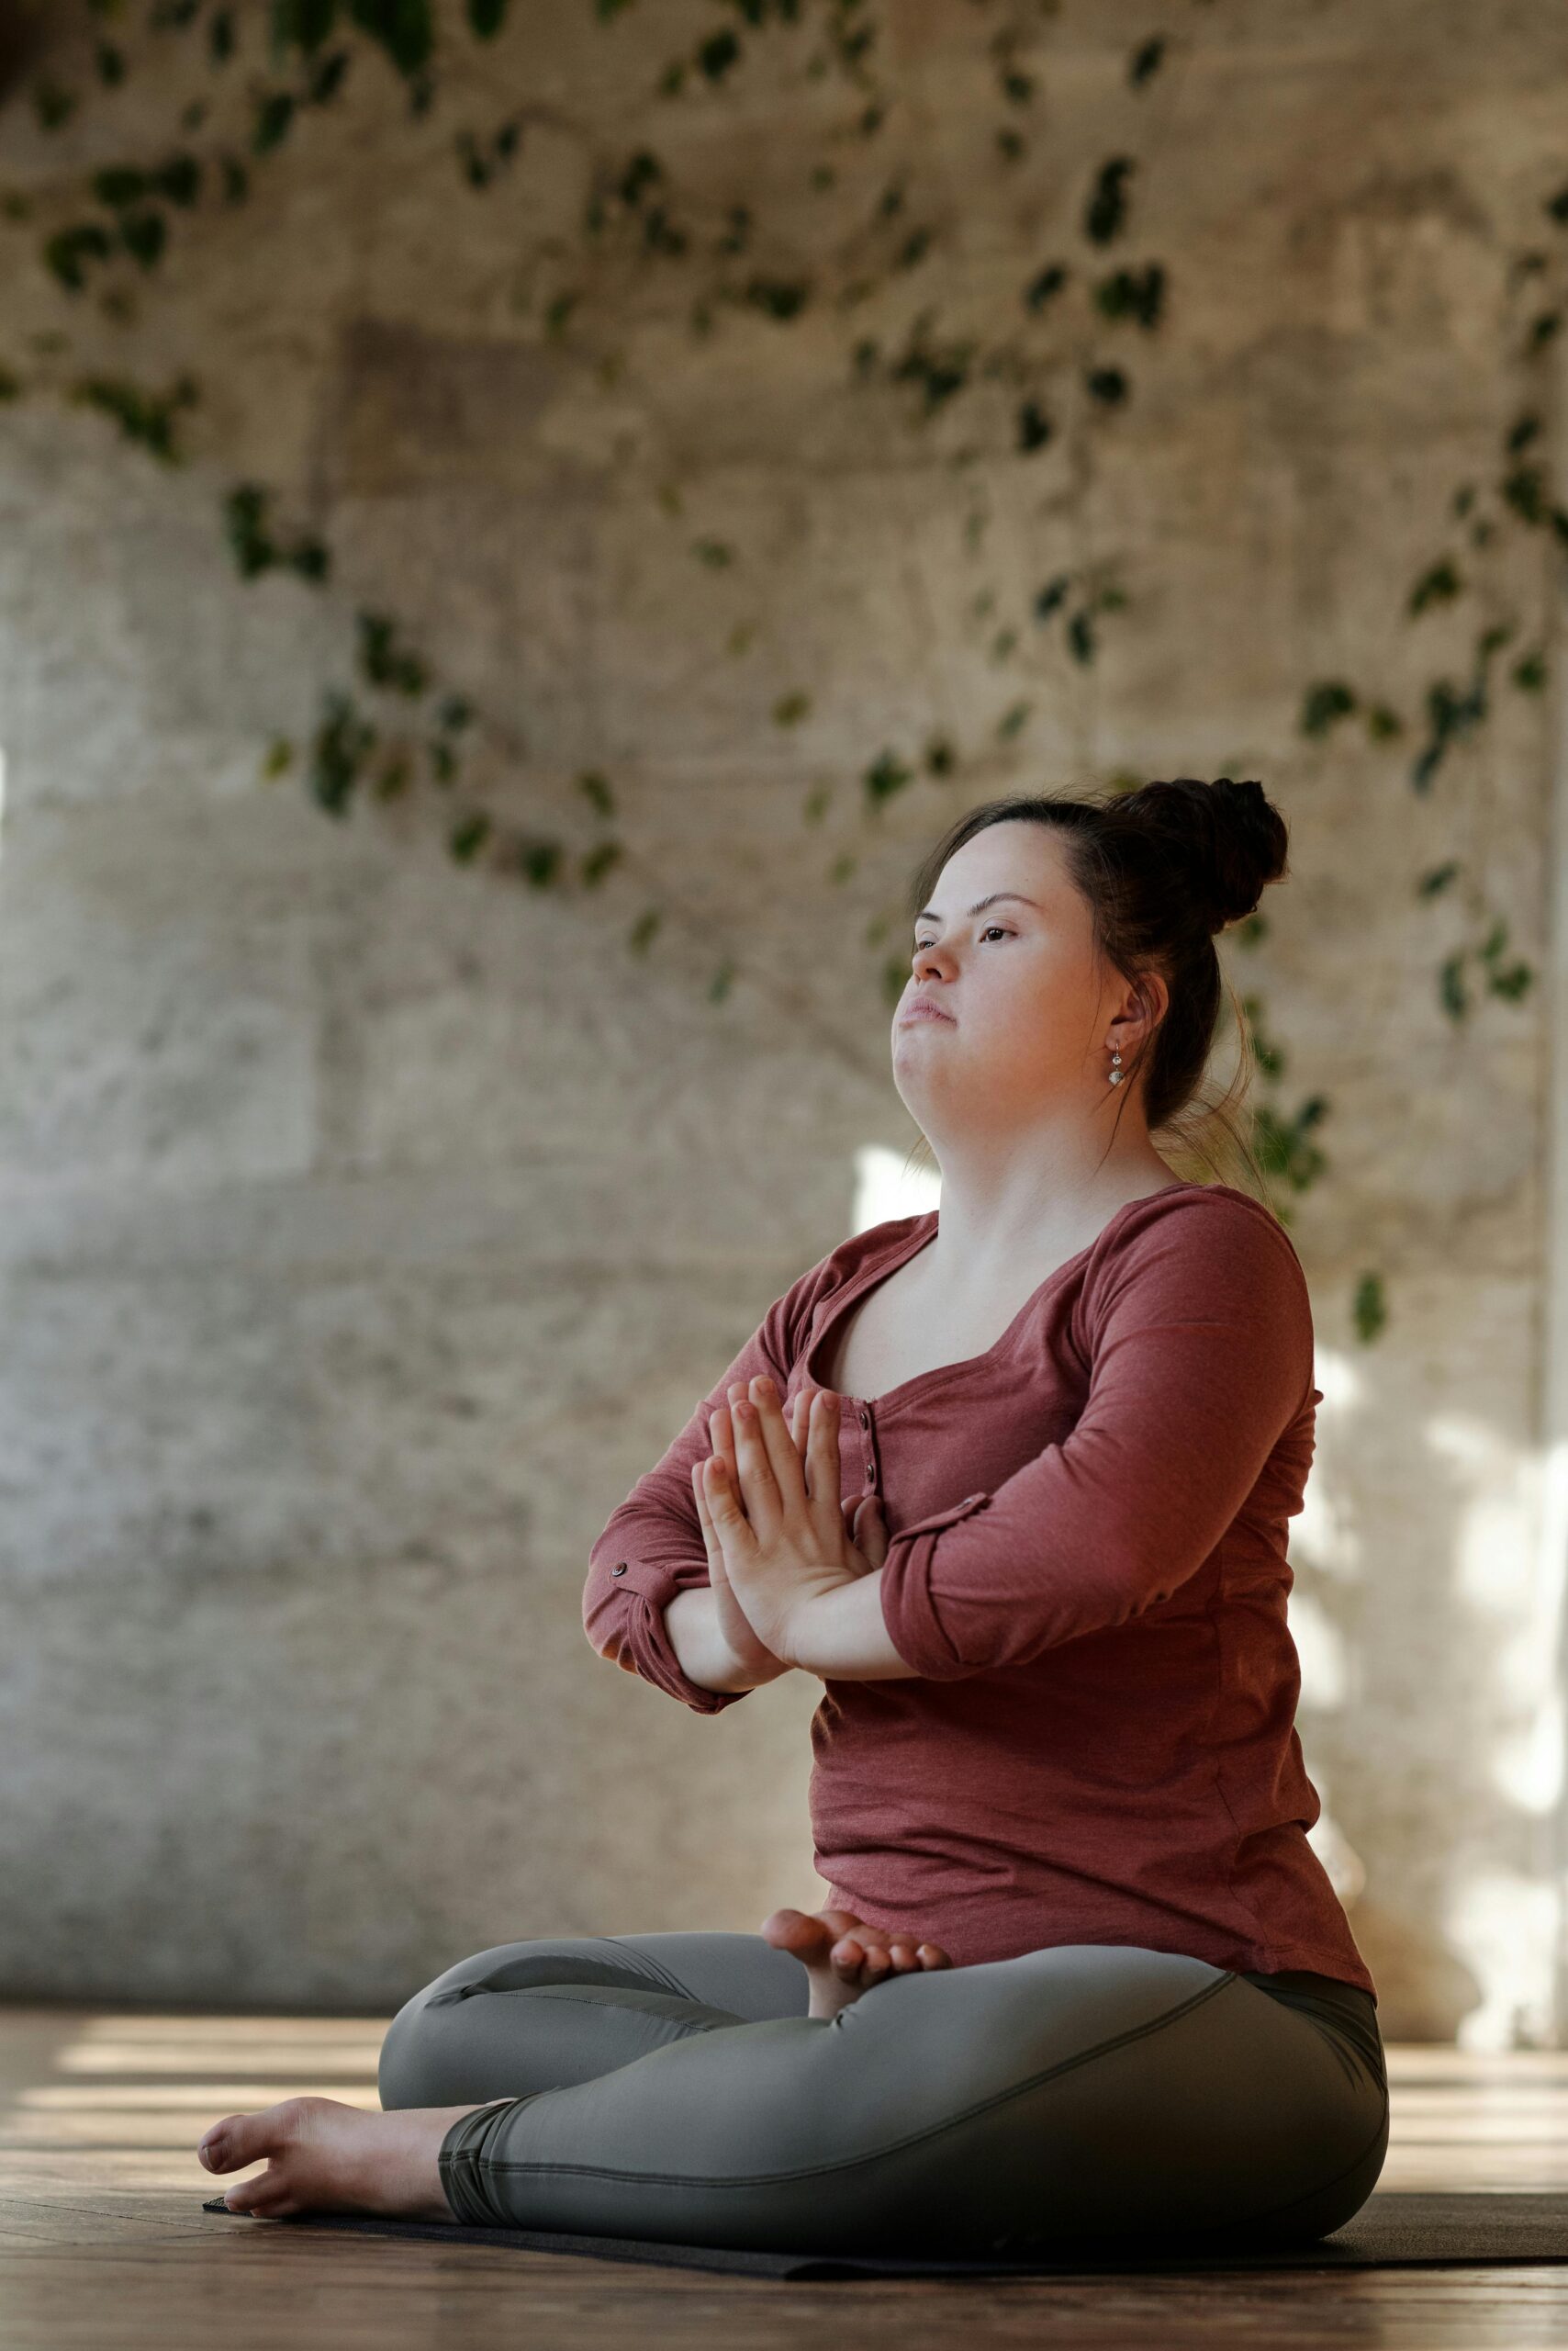
[[[788,2252],[1279,2245],[1387,2151],[1307,1829],[1288,1521],[1312,1312],[1187,1183],[1258,783],[971,809],[914,877],[893,1079],[940,1211],[839,1241],[592,1547],[597,1650],[698,1714],[823,1683],[818,1914],[458,1961],[381,2114],[233,2114],[233,2210]],[[1208,1105],[1204,1105],[1208,1107]],[[1213,1110],[1222,1117],[1225,1105]]]

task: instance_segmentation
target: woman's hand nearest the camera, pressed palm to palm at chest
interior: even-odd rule
[[[804,1460],[766,1375],[722,1411],[733,1429],[741,1491],[715,1448],[703,1462],[703,1493],[724,1573],[757,1639],[785,1665],[804,1665],[811,1603],[875,1573],[839,1502],[839,1399],[825,1387],[813,1392]]]

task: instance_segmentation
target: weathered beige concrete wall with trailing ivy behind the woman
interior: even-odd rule
[[[1389,2041],[1561,2045],[1566,75],[1502,0],[0,0],[0,1994],[816,1904],[820,1686],[616,1672],[590,1542],[936,1204],[926,846],[1229,773],[1312,1843]]]

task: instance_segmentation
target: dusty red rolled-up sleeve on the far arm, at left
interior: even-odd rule
[[[745,1690],[705,1690],[691,1681],[665,1629],[665,1608],[677,1592],[708,1585],[703,1521],[691,1493],[691,1465],[708,1460],[710,1415],[729,1401],[733,1380],[769,1373],[783,1396],[816,1298],[823,1293],[823,1258],[773,1300],[729,1371],[691,1413],[663,1458],[646,1469],[604,1526],[588,1554],[583,1632],[602,1657],[651,1681],[656,1690],[684,1700],[696,1714],[719,1714]]]

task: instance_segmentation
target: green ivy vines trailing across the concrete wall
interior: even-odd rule
[[[637,0],[581,0],[607,38],[654,9]],[[954,0],[959,5],[959,0]],[[1037,146],[1039,99],[1048,87],[1046,31],[1060,0],[961,0],[990,61],[997,120],[994,167],[1001,181],[1018,176]],[[1180,0],[1166,0],[1171,9]],[[1201,7],[1204,0],[1190,0]],[[92,327],[113,334],[141,315],[148,292],[167,275],[186,223],[212,209],[249,202],[259,172],[287,167],[289,153],[313,122],[346,120],[367,73],[390,73],[407,96],[411,118],[433,118],[442,106],[465,106],[477,87],[473,61],[498,45],[522,9],[508,0],[89,0],[96,38],[73,49],[68,75],[47,52],[26,89],[0,89],[0,103],[26,101],[45,134],[78,120],[92,96],[113,106],[118,92],[160,66],[160,45],[176,42],[200,59],[207,96],[190,101],[155,153],[127,153],[99,165],[80,186],[52,183],[40,195],[0,190],[0,226],[35,240],[38,266],[52,280],[66,327],[54,339],[33,339],[31,362],[0,353],[0,404],[28,395],[61,395],[110,421],[155,463],[188,463],[190,433],[200,418],[200,386],[181,374],[165,386],[146,386],[113,364],[71,364],[73,331]],[[954,324],[952,303],[910,301],[898,324],[865,331],[856,313],[875,296],[914,284],[940,259],[950,230],[940,202],[912,167],[877,169],[877,141],[905,103],[896,78],[884,71],[882,24],[872,0],[712,0],[710,24],[679,54],[651,73],[649,96],[668,108],[712,103],[741,85],[748,68],[771,56],[788,63],[802,85],[835,80],[842,103],[820,132],[820,150],[802,158],[802,193],[788,221],[764,221],[755,205],[689,183],[661,143],[644,139],[618,153],[592,122],[559,106],[529,101],[498,120],[451,120],[449,150],[454,190],[496,202],[520,181],[531,134],[550,125],[578,139],[590,158],[581,235],[538,237],[520,261],[520,308],[538,322],[548,341],[564,341],[585,357],[597,355],[597,376],[609,388],[623,357],[614,346],[618,299],[632,277],[665,273],[684,301],[693,343],[719,336],[726,322],[757,322],[762,331],[790,331],[806,315],[844,320],[844,383],[877,393],[903,407],[910,435],[931,433],[943,421],[971,416],[971,437],[947,458],[964,475],[976,458],[1009,451],[1032,461],[1065,449],[1072,482],[1081,494],[1093,477],[1095,440],[1114,430],[1114,418],[1138,395],[1138,360],[1168,327],[1173,270],[1166,259],[1138,249],[1143,179],[1138,155],[1140,110],[1171,78],[1171,63],[1192,49],[1192,35],[1159,28],[1124,61],[1126,129],[1114,153],[1079,174],[1072,214],[1065,214],[1044,249],[1023,273],[1009,315],[980,324]],[[480,78],[482,82],[484,78]],[[501,75],[496,75],[501,82]],[[811,200],[856,190],[858,212],[844,230],[813,230]],[[863,195],[860,195],[863,190]],[[1556,228],[1568,226],[1568,190],[1549,200]],[[1556,263],[1547,254],[1519,256],[1519,282],[1540,284]],[[1559,268],[1561,277],[1561,268]],[[1537,308],[1526,336],[1526,364],[1540,362],[1561,327],[1561,292]],[[66,355],[66,364],[54,364]],[[999,411],[1006,428],[994,426]],[[877,411],[884,414],[884,407]],[[882,430],[877,423],[872,430]],[[1462,524],[1467,552],[1434,550],[1408,588],[1406,611],[1415,623],[1474,597],[1495,607],[1497,588],[1479,585],[1481,557],[1505,531],[1540,531],[1568,545],[1568,515],[1554,503],[1544,463],[1533,454],[1540,414],[1521,414],[1505,440],[1495,482],[1460,484],[1450,520]],[[684,501],[677,484],[663,484],[658,503],[677,524]],[[221,531],[242,581],[284,576],[329,595],[336,581],[331,545],[315,515],[287,513],[282,494],[261,482],[233,482],[221,494]],[[978,484],[969,489],[961,552],[980,562],[990,505]],[[745,576],[745,550],[719,534],[689,541],[696,564],[736,569]],[[336,600],[334,600],[336,602]],[[1135,592],[1114,562],[1084,550],[1067,567],[1053,564],[1034,583],[1023,609],[1004,609],[994,588],[969,602],[969,625],[985,632],[987,663],[999,672],[999,696],[990,724],[971,745],[940,726],[924,743],[870,743],[853,778],[853,809],[863,823],[922,778],[947,783],[1027,738],[1041,694],[1060,691],[1067,672],[1098,661],[1103,630],[1135,611]],[[421,792],[442,797],[447,853],[461,865],[484,865],[515,875],[534,889],[597,891],[614,872],[646,891],[632,912],[625,943],[646,955],[661,931],[677,922],[693,940],[705,922],[658,882],[651,865],[630,851],[618,832],[618,797],[611,778],[585,771],[571,783],[569,806],[555,816],[517,823],[503,813],[515,802],[517,781],[529,776],[527,741],[508,736],[461,686],[440,672],[433,654],[416,644],[386,604],[341,616],[350,632],[343,675],[329,686],[306,736],[277,734],[263,757],[263,776],[296,776],[310,804],[346,820],[362,802],[381,804]],[[736,621],[724,654],[741,661],[757,625]],[[1493,668],[1514,647],[1509,684],[1540,694],[1547,675],[1542,628],[1523,632],[1516,614],[1488,618],[1476,630],[1467,677],[1434,677],[1422,705],[1422,741],[1410,762],[1410,785],[1432,783],[1465,743],[1474,743],[1493,701]],[[1001,672],[1016,672],[1013,677]],[[1037,691],[1030,691],[1034,684]],[[776,694],[766,717],[778,729],[811,715],[806,686]],[[1298,726],[1312,741],[1328,741],[1347,722],[1361,722],[1373,743],[1403,741],[1413,722],[1396,698],[1345,677],[1312,682],[1302,694]],[[1140,778],[1117,773],[1117,788]],[[816,783],[802,806],[806,825],[823,825],[835,788]],[[567,823],[567,818],[571,818]],[[583,839],[588,825],[595,837]],[[858,870],[853,846],[839,849],[827,879],[846,884]],[[1439,992],[1458,1020],[1472,1004],[1472,987],[1519,1002],[1530,969],[1509,955],[1507,924],[1483,905],[1479,884],[1467,884],[1460,860],[1422,875],[1422,898],[1467,889],[1474,936],[1443,959]],[[865,943],[882,950],[879,978],[893,1002],[907,976],[903,943],[889,947],[903,915],[877,915]],[[1237,926],[1237,943],[1255,947],[1267,919]],[[710,997],[722,1002],[741,973],[762,971],[759,950],[731,952],[712,969]],[[769,987],[788,983],[764,973]],[[1286,1051],[1267,1039],[1265,1006],[1244,994],[1246,1049],[1269,1081],[1269,1098],[1253,1112],[1253,1147],[1269,1176],[1288,1190],[1307,1190],[1324,1171],[1319,1128],[1328,1114],[1321,1096],[1286,1110],[1281,1089]],[[802,1009],[804,999],[799,999]],[[837,1051],[863,1058],[818,1027]],[[1288,1213],[1288,1211],[1281,1211]],[[1371,1293],[1368,1293],[1371,1298]],[[1371,1335],[1382,1310],[1356,1307],[1356,1326]]]

